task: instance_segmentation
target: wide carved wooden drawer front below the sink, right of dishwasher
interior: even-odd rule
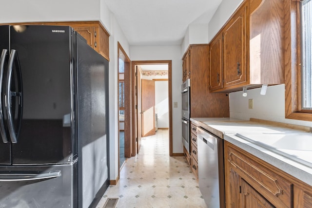
[[[241,151],[228,147],[225,154],[227,162],[234,166],[234,170],[274,206],[292,207],[292,183],[242,154]]]

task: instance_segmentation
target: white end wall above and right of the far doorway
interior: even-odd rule
[[[131,46],[130,58],[134,60],[172,60],[172,102],[177,102],[178,107],[172,104],[173,119],[173,153],[182,153],[183,145],[181,124],[181,84],[182,84],[182,59],[181,46]]]

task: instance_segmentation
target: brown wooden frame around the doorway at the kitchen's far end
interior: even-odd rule
[[[132,91],[132,132],[136,132],[135,128],[137,125],[135,125],[136,119],[135,119],[135,80],[136,80],[136,65],[151,65],[151,64],[168,64],[168,95],[169,95],[169,102],[168,102],[168,108],[169,108],[169,155],[173,156],[173,138],[172,138],[172,60],[137,60],[137,61],[131,61],[131,91]],[[135,156],[137,154],[137,145],[136,145],[136,135],[132,135],[132,156]]]

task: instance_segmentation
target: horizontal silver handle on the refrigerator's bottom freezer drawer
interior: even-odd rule
[[[33,181],[57,178],[61,176],[60,170],[55,172],[41,173],[41,174],[0,174],[0,181]]]

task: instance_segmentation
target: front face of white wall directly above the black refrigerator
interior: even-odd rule
[[[1,23],[29,21],[99,20],[100,0],[5,0]]]

